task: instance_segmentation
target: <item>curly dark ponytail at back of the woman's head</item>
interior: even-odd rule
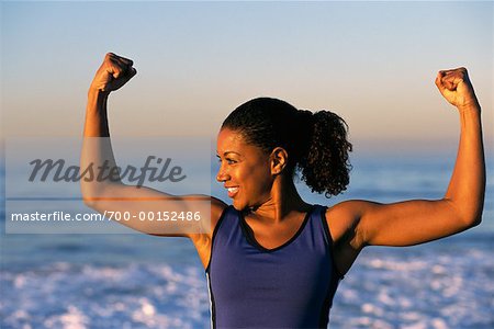
[[[347,189],[350,182],[349,152],[352,149],[348,138],[348,125],[337,114],[319,111],[304,117],[310,126],[305,155],[297,168],[312,192],[323,193],[326,197],[337,195]]]

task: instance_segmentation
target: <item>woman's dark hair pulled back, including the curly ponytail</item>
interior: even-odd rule
[[[312,113],[278,99],[258,98],[235,109],[222,128],[240,133],[246,143],[266,152],[285,149],[288,173],[299,169],[312,192],[330,197],[347,189],[351,169],[348,125],[333,112]]]

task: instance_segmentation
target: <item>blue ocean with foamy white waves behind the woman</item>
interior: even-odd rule
[[[325,205],[441,197],[453,157],[367,155],[352,162],[343,195],[326,200],[300,185],[303,197]],[[329,327],[494,328],[494,181],[487,177],[480,226],[420,246],[364,249],[340,282]],[[220,184],[212,186],[227,200]],[[204,270],[189,240],[5,234],[4,214],[3,206],[1,328],[210,327]]]

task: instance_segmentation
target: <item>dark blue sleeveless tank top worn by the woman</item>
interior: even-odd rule
[[[266,249],[243,213],[225,208],[206,268],[212,328],[327,327],[340,276],[325,212],[312,206],[289,241]]]

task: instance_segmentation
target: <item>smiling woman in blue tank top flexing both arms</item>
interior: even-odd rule
[[[85,137],[110,136],[108,97],[135,73],[132,60],[105,56],[89,89]],[[216,179],[233,206],[206,196],[210,229],[170,234],[151,222],[123,224],[192,240],[206,271],[213,327],[326,327],[338,281],[364,247],[424,243],[481,220],[485,189],[481,109],[464,68],[439,71],[436,86],[458,109],[461,123],[457,162],[441,200],[392,204],[351,200],[332,207],[305,203],[293,183],[296,169],[315,192],[329,196],[346,189],[351,150],[346,124],[327,111],[313,114],[262,98],[233,111],[220,131]],[[85,140],[81,168],[103,160],[115,166],[109,138]],[[85,201],[101,213],[137,213],[142,204],[132,201],[138,198],[192,208],[198,198],[137,189],[120,180],[81,182]]]

